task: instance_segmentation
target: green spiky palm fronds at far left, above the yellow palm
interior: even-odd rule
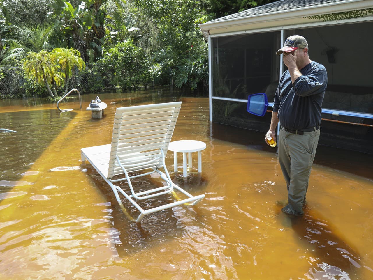
[[[39,53],[41,50],[53,49],[50,44],[53,25],[37,25],[32,28],[13,25],[13,28],[13,38],[7,40],[1,63],[9,63],[12,58],[20,61],[32,51]]]

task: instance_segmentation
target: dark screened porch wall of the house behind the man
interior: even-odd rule
[[[311,60],[326,67],[328,86],[323,108],[373,114],[371,30],[372,21],[284,29],[283,39],[293,34],[303,35],[310,46]],[[257,117],[247,113],[242,102],[216,98],[243,101],[250,94],[265,92],[268,101],[273,102],[282,65],[280,57],[275,55],[280,39],[280,30],[212,38],[212,121],[263,133],[268,130],[270,112]],[[285,71],[286,67],[282,67]],[[370,145],[373,127],[327,121],[373,125],[372,119],[325,113],[322,117],[325,120],[321,124],[319,144],[373,154]]]

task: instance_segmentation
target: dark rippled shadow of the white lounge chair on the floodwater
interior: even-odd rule
[[[171,173],[173,182],[183,187],[186,191],[195,193],[203,192],[207,184],[207,179],[193,172],[188,174],[188,177],[182,177],[182,172]],[[97,175],[97,172],[91,167],[87,166],[87,175],[92,178],[94,184],[103,192],[103,195],[110,201],[105,209],[106,213],[110,213],[109,218],[113,225],[116,225],[117,232],[115,232],[116,249],[120,257],[125,257],[137,252],[141,252],[151,248],[154,245],[167,244],[172,242],[174,238],[181,238],[182,231],[185,224],[191,221],[198,220],[197,210],[188,205],[173,207],[146,216],[146,221],[134,223],[134,220],[140,212],[129,201],[122,197],[122,203],[125,209],[121,209],[116,202],[116,198],[112,189],[107,183]],[[152,174],[151,176],[138,177],[131,179],[132,185],[136,186],[136,191],[144,191],[149,188],[157,188],[163,185],[163,180]],[[128,190],[126,182],[120,183],[123,190]],[[173,194],[163,195],[162,197],[150,198],[144,201],[138,201],[138,204],[143,209],[150,207],[162,206],[166,203],[171,203],[179,199],[179,195],[175,192]]]

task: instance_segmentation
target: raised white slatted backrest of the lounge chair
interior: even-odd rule
[[[162,166],[161,152],[166,155],[181,102],[117,108],[107,178],[127,172],[156,169]]]

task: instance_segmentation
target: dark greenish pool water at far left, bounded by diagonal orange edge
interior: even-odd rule
[[[20,179],[75,115],[57,109],[0,113],[1,128],[18,131],[0,133],[0,181]]]

